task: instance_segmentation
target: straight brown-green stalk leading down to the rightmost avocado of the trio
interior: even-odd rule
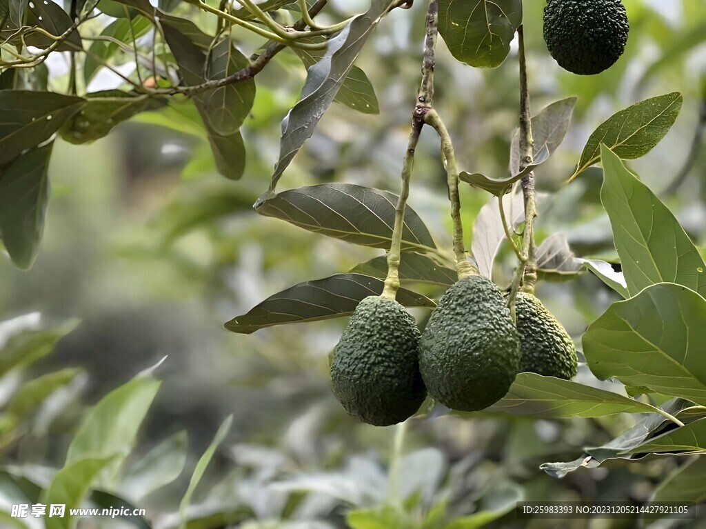
[[[517,41],[520,58],[520,171],[534,161],[534,138],[532,137],[532,118],[530,113],[530,90],[527,88],[527,59],[525,58],[525,31],[522,25],[517,28]],[[537,217],[537,203],[534,195],[534,172],[522,177],[522,195],[525,198],[525,229],[522,232],[520,264],[515,270],[510,287],[510,314],[515,319],[515,299],[522,285],[523,292],[534,292],[537,283],[537,260],[534,244],[534,219]]]

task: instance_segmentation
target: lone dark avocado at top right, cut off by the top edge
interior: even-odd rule
[[[580,75],[615,64],[628,42],[628,16],[620,0],[549,0],[544,42],[563,69]]]

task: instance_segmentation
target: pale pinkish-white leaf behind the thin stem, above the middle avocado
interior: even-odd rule
[[[503,201],[503,210],[508,224],[515,228],[525,220],[525,210],[523,208],[522,194],[506,194],[502,198],[493,196],[481,208],[473,222],[473,241],[471,250],[478,271],[481,275],[491,279],[493,273],[493,262],[498,254],[501,244],[506,239],[505,230],[500,217],[498,200]]]

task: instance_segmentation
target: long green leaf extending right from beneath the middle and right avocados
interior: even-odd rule
[[[603,417],[614,413],[654,411],[631,398],[536,373],[518,373],[508,394],[487,411],[534,417]]]

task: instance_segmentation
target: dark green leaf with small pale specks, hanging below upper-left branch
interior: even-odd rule
[[[103,138],[114,126],[140,112],[164,107],[166,102],[122,90],[102,90],[86,94],[88,104],[61,127],[61,137],[69,143],[90,143]]]

